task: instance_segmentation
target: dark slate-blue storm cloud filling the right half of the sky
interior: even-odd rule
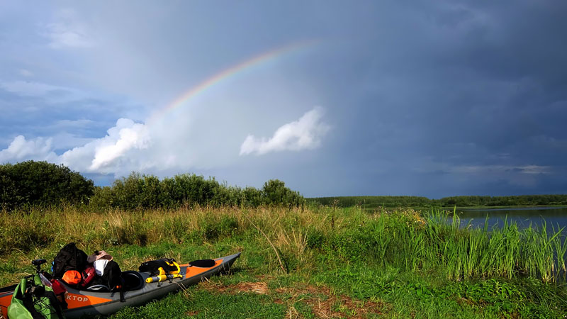
[[[327,99],[349,106],[330,150],[349,194],[567,191],[566,4],[437,4],[380,6],[374,32],[320,62]]]

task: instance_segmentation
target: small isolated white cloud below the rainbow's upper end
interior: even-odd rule
[[[322,108],[313,108],[298,121],[281,125],[269,139],[248,135],[240,146],[240,155],[264,155],[269,152],[311,150],[319,147],[322,137],[330,129],[329,125],[321,121],[323,113]]]

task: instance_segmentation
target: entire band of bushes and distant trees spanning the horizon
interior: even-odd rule
[[[567,195],[451,196],[430,199],[419,196],[342,196],[307,200],[277,179],[266,181],[262,189],[240,188],[219,183],[214,178],[179,174],[159,179],[132,173],[111,186],[94,186],[93,181],[64,165],[27,161],[0,165],[0,209],[23,206],[82,204],[93,209],[178,208],[181,206],[266,205],[298,207],[305,203],[365,208],[384,207],[471,207],[567,205]]]

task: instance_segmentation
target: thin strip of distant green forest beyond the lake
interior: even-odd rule
[[[365,208],[384,207],[473,207],[473,206],[549,206],[567,205],[567,194],[520,196],[451,196],[430,199],[420,196],[337,196],[307,198],[326,206]]]

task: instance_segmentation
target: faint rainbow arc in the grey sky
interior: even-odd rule
[[[301,41],[298,43],[293,43],[291,45],[286,45],[283,47],[279,47],[275,50],[270,50],[268,52],[264,52],[261,55],[257,55],[256,57],[252,57],[252,59],[245,60],[244,62],[240,62],[237,65],[234,65],[228,69],[225,69],[222,72],[218,72],[217,74],[209,77],[208,79],[204,80],[203,82],[197,84],[196,86],[191,87],[191,89],[185,91],[184,94],[181,94],[177,99],[175,99],[172,103],[161,108],[159,111],[154,113],[148,124],[155,123],[160,118],[163,118],[167,115],[167,113],[173,111],[180,106],[183,106],[187,101],[193,99],[194,97],[198,96],[199,94],[203,94],[204,91],[210,89],[211,87],[220,84],[221,82],[229,79],[230,77],[234,77],[236,74],[239,74],[246,69],[251,67],[263,65],[266,62],[270,62],[275,60],[277,57],[281,57],[288,53],[296,52],[301,50],[305,47],[310,47],[315,43],[318,43],[319,40],[308,40],[308,41]]]

